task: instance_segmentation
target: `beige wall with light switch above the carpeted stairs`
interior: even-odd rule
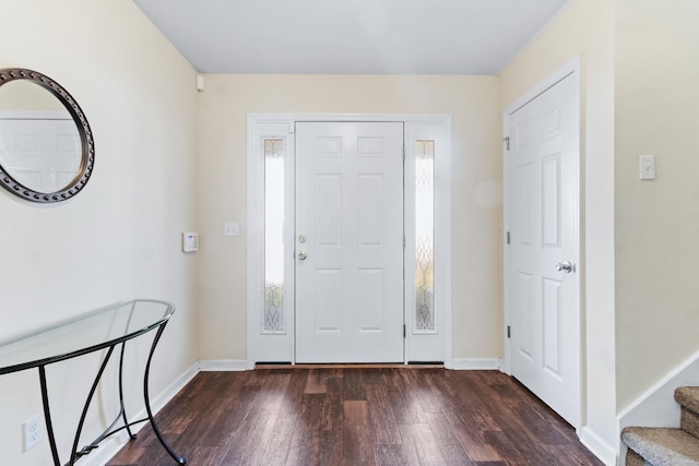
[[[617,0],[617,393],[628,406],[699,350],[699,3]],[[639,180],[639,155],[656,179]]]

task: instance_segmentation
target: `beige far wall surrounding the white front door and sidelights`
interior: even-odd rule
[[[246,358],[246,116],[265,112],[452,115],[453,357],[500,357],[498,103],[493,76],[208,75],[199,119],[200,357]],[[224,238],[225,220],[238,222],[241,236]]]

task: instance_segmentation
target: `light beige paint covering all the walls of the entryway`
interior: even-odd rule
[[[93,127],[97,160],[85,192],[64,204],[0,193],[0,238],[13,244],[0,249],[0,338],[157,297],[179,310],[153,392],[198,358],[244,359],[246,115],[450,113],[453,357],[502,356],[501,111],[581,55],[583,429],[615,445],[616,413],[698,349],[697,14],[692,0],[673,10],[577,0],[498,77],[208,75],[198,94],[192,68],[131,2],[5,2],[0,67],[66,86]],[[638,155],[648,153],[657,179],[641,182]],[[240,237],[223,237],[226,220]],[[201,251],[182,254],[179,235],[193,229]],[[66,421],[82,398],[72,378],[84,379],[70,365],[51,375]],[[46,443],[21,453],[20,426],[39,410],[35,374],[0,378],[9,464],[47,464]]]

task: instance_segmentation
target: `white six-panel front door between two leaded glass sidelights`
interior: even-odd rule
[[[296,123],[296,362],[403,361],[403,123]]]

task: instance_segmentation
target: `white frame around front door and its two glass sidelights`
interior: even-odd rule
[[[435,309],[437,325],[435,331],[413,331],[413,314],[407,312],[415,297],[413,288],[406,286],[404,292],[404,363],[412,361],[445,362],[452,367],[452,310],[451,310],[451,116],[450,115],[369,115],[369,113],[249,113],[247,141],[247,369],[253,369],[258,361],[291,362],[294,360],[295,320],[288,316],[281,332],[262,332],[262,310],[264,309],[264,157],[262,144],[265,139],[284,141],[285,157],[289,160],[285,174],[286,212],[293,212],[294,176],[294,126],[301,121],[356,121],[356,122],[402,122],[404,124],[405,159],[414,157],[411,141],[431,139],[437,141],[435,183]],[[411,176],[411,164],[405,164],[404,178]],[[414,188],[405,183],[407,206]],[[291,204],[289,204],[291,203]],[[291,210],[291,211],[289,211]],[[414,238],[415,218],[410,208],[404,210],[406,246]],[[294,228],[291,224],[284,234],[285,255],[285,302],[294,302]],[[405,282],[414,283],[415,260],[410,247],[405,248]],[[411,278],[413,277],[413,278]]]

